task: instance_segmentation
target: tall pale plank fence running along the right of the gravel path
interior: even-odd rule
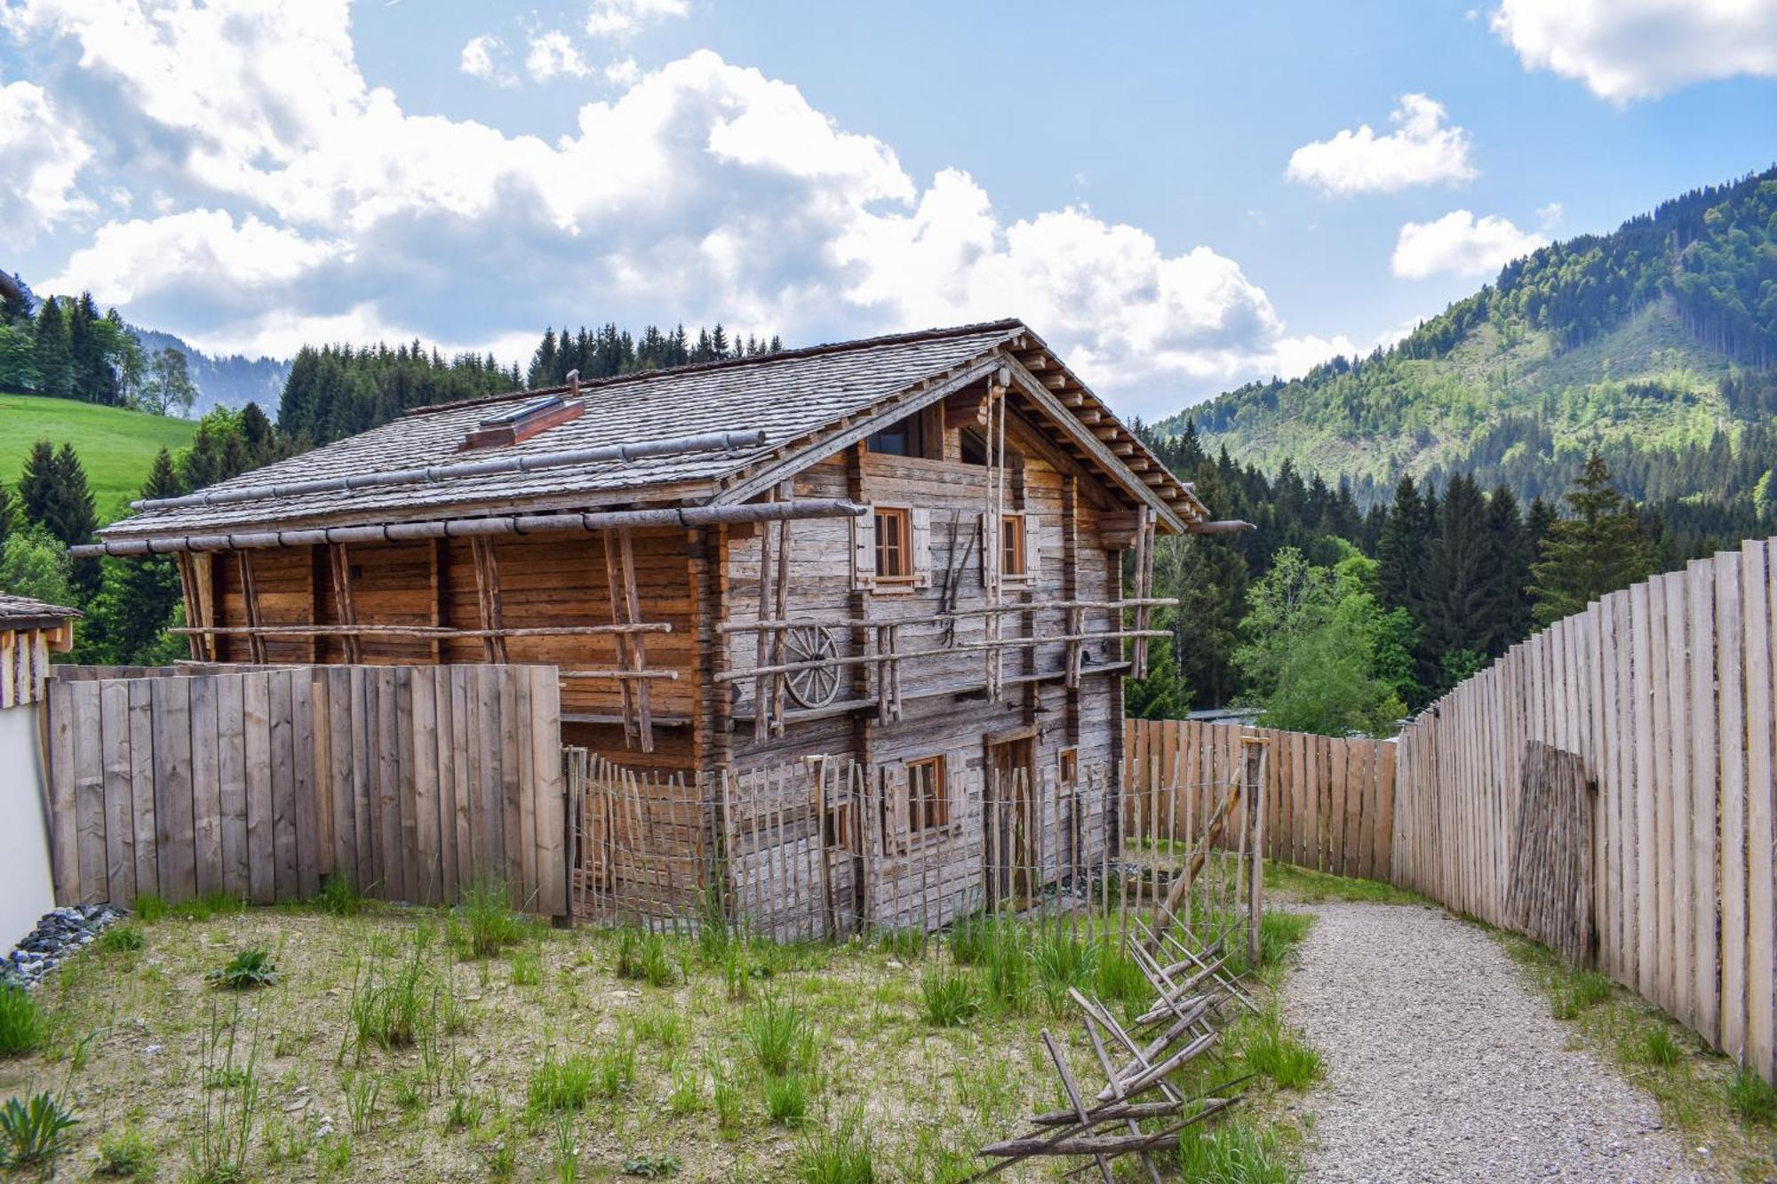
[[[1777,540],[1606,596],[1400,736],[1395,882],[1507,924],[1526,748],[1596,784],[1599,967],[1773,1077]]]

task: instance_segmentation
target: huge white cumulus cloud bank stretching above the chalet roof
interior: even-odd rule
[[[100,228],[48,286],[91,286],[204,348],[421,336],[522,350],[576,316],[825,341],[1016,315],[1141,414],[1354,348],[1292,334],[1210,247],[1162,249],[1084,204],[1002,217],[967,172],[919,181],[794,85],[711,52],[631,64],[620,94],[546,142],[370,87],[343,5],[226,27],[204,12],[18,9],[28,36],[78,48],[55,59],[78,73],[52,92],[121,139],[190,148],[147,183],[105,178],[153,215]],[[116,23],[133,27],[130,52]],[[208,59],[194,66],[208,87],[185,76],[190,55]]]

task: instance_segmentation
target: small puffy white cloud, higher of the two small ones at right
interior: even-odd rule
[[[1388,121],[1395,124],[1388,135],[1377,135],[1365,123],[1331,140],[1303,144],[1290,153],[1283,174],[1329,194],[1393,194],[1411,185],[1457,185],[1477,176],[1468,132],[1445,124],[1443,103],[1402,94]]]

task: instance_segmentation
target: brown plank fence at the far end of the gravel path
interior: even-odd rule
[[[1310,736],[1272,727],[1127,720],[1123,734],[1125,825],[1166,802],[1201,818],[1210,786],[1230,784],[1240,738],[1271,741],[1265,763],[1265,857],[1342,876],[1388,880],[1395,836],[1395,745],[1386,740]],[[1196,796],[1162,798],[1164,786],[1196,786]],[[1189,800],[1187,800],[1189,798]]]

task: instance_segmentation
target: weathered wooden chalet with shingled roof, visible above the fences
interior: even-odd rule
[[[1239,526],[1018,320],[418,409],[137,510],[85,551],[176,555],[194,660],[549,663],[604,761],[842,757],[945,834],[960,773],[1116,768],[1155,537]]]

